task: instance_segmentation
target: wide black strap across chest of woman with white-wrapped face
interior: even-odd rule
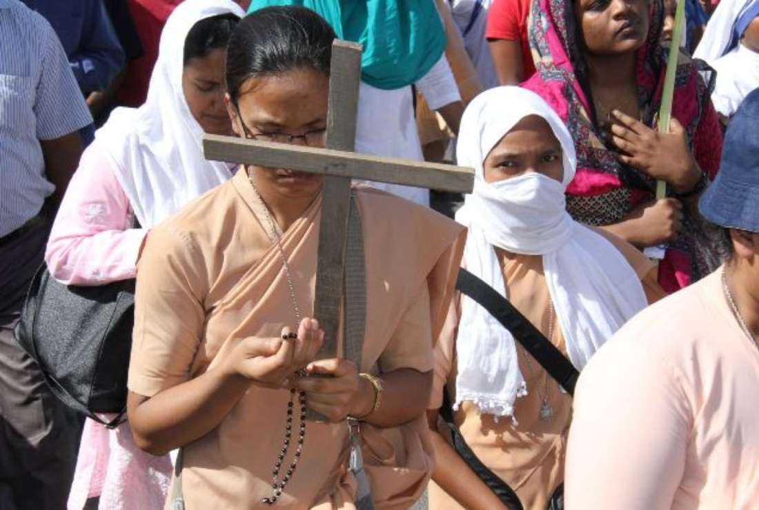
[[[580,373],[572,365],[572,361],[556,349],[556,346],[550,343],[550,340],[540,333],[540,330],[534,327],[508,299],[464,268],[458,272],[456,288],[490,312],[493,318],[496,318],[512,333],[524,350],[529,352],[567,393],[570,395],[575,393],[575,384]]]

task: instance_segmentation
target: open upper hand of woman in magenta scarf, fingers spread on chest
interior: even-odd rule
[[[693,189],[701,179],[701,171],[688,148],[688,136],[675,119],[669,123],[669,133],[652,130],[622,111],[612,112],[612,141],[625,154],[619,161],[672,185],[676,192]]]

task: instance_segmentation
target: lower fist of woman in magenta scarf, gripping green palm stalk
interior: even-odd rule
[[[677,239],[682,230],[682,202],[661,199],[630,211],[619,226],[619,235],[640,248]]]

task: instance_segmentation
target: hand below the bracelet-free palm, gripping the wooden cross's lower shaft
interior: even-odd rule
[[[332,376],[300,377],[294,384],[306,392],[306,405],[329,421],[339,423],[348,415],[364,416],[372,410],[373,386],[358,377],[358,368],[352,361],[339,358],[313,361],[306,371]]]

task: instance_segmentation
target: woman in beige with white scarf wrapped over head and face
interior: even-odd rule
[[[566,212],[575,148],[562,120],[534,92],[499,87],[477,96],[462,120],[457,152],[459,163],[477,172],[456,216],[469,229],[463,266],[509,299],[575,368],[663,296],[644,255]],[[444,392],[480,461],[524,508],[546,508],[564,476],[572,399],[466,296],[454,300],[436,348],[430,508],[500,508],[446,433],[438,433]]]

